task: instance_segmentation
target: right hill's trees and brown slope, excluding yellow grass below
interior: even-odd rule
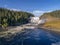
[[[40,19],[47,19],[47,21],[59,20],[60,19],[60,10],[52,11],[49,13],[44,13],[40,16]]]

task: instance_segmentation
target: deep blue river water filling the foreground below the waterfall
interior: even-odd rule
[[[58,37],[38,28],[25,29],[10,38],[0,38],[0,45],[60,45]]]

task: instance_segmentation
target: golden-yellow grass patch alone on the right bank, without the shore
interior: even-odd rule
[[[60,20],[46,22],[44,24],[44,27],[53,28],[53,29],[60,29]]]

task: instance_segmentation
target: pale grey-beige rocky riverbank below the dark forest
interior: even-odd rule
[[[11,26],[8,27],[6,31],[0,31],[0,37],[10,37],[12,35],[16,35],[17,33],[21,33],[25,28],[31,29],[35,28],[35,26],[31,24],[25,24],[21,26]]]

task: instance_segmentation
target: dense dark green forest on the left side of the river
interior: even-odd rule
[[[28,18],[34,16],[23,11],[13,11],[0,8],[0,27],[15,26],[28,23]]]

